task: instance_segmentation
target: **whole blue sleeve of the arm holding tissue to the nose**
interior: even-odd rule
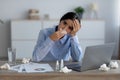
[[[52,41],[49,36],[45,35],[43,30],[40,31],[37,44],[33,51],[32,60],[41,61],[51,50],[54,41]]]

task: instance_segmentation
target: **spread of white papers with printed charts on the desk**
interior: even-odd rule
[[[49,64],[40,64],[40,63],[27,63],[12,66],[11,70],[15,70],[18,72],[27,72],[27,73],[34,73],[34,72],[52,72],[54,71]]]

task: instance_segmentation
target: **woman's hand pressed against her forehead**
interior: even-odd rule
[[[78,30],[81,28],[80,23],[78,22],[78,20],[74,20],[73,21],[73,30],[70,32],[71,36],[75,36],[76,32],[78,32]]]

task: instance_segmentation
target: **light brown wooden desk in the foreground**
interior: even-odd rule
[[[0,61],[0,65],[5,61]],[[118,61],[120,66],[120,61]],[[50,63],[53,64],[53,63]],[[54,65],[54,64],[53,64]],[[54,67],[52,65],[52,67]],[[108,72],[89,70],[84,72],[49,72],[49,73],[18,73],[9,70],[0,70],[0,80],[120,80],[120,68]]]

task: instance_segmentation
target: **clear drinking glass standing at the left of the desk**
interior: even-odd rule
[[[16,63],[16,49],[15,48],[8,48],[8,62],[11,65],[15,65]]]

